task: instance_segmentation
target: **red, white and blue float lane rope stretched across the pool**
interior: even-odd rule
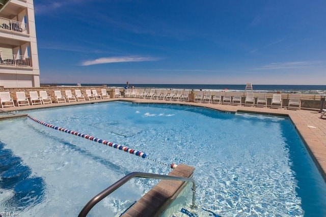
[[[88,139],[88,140],[91,140],[91,141],[94,141],[94,142],[98,142],[98,143],[101,143],[101,144],[104,144],[104,145],[107,145],[107,146],[110,146],[110,147],[114,147],[116,149],[119,149],[119,150],[123,150],[125,152],[128,152],[128,153],[131,153],[131,154],[134,154],[135,156],[138,156],[138,157],[141,157],[141,158],[147,158],[149,160],[152,160],[152,161],[155,161],[157,163],[160,163],[160,164],[163,164],[163,165],[167,165],[169,166],[168,164],[165,164],[165,163],[161,163],[161,162],[158,162],[156,160],[153,160],[153,159],[150,159],[147,157],[147,154],[142,152],[142,151],[139,151],[139,150],[134,150],[134,149],[131,149],[131,148],[128,148],[127,146],[123,146],[123,145],[118,145],[118,144],[115,144],[113,142],[108,142],[106,140],[103,140],[103,139],[99,139],[99,138],[96,138],[94,136],[90,136],[90,135],[87,135],[87,134],[84,134],[84,133],[78,133],[76,131],[72,131],[72,130],[68,130],[68,129],[65,129],[65,128],[60,128],[60,127],[57,127],[57,126],[54,126],[54,125],[51,125],[50,123],[46,123],[46,122],[43,122],[41,120],[38,120],[34,117],[32,117],[31,115],[27,115],[30,119],[34,120],[35,122],[38,122],[40,123],[41,125],[45,126],[45,127],[48,127],[48,128],[52,128],[52,129],[55,129],[55,130],[58,130],[58,131],[62,131],[62,132],[65,132],[65,133],[68,133],[68,134],[72,134],[72,135],[75,135],[75,136],[79,136],[79,137],[82,137],[82,138],[85,138],[85,139]],[[174,169],[176,168],[178,165],[176,164],[171,164],[170,165],[170,168],[171,169]]]

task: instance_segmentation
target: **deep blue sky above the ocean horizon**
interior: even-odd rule
[[[41,83],[325,84],[325,1],[34,0]]]

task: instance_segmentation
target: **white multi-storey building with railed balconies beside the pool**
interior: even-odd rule
[[[40,86],[33,0],[0,0],[0,86]]]

